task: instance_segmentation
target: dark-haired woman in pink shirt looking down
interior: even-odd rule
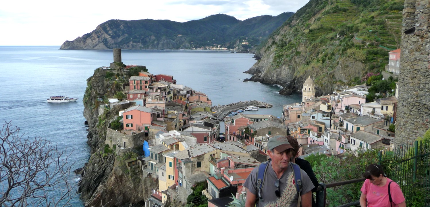
[[[366,172],[363,174],[366,180],[361,187],[361,207],[406,207],[405,196],[399,185],[384,175],[381,165],[371,164],[366,167]],[[391,202],[388,196],[388,185],[390,185]]]

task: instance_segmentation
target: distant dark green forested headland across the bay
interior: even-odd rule
[[[244,21],[217,14],[184,23],[113,19],[82,37],[64,42],[61,49],[192,49],[214,45],[232,49],[248,39],[257,45],[293,14],[284,12],[276,17],[263,15]]]

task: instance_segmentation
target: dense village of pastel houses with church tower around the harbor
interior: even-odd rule
[[[121,61],[118,53],[114,49],[114,62]],[[390,52],[384,78],[398,74],[399,53],[399,49]],[[393,147],[390,126],[396,121],[397,97],[366,102],[366,85],[315,97],[309,77],[303,84],[302,102],[284,105],[282,118],[238,113],[225,117],[225,135],[220,134],[209,97],[177,84],[173,76],[140,71],[126,85],[126,99],[110,98],[101,105],[119,111],[111,128],[115,121],[120,127],[107,128],[105,144],[118,155],[139,154],[124,161],[128,170],[158,182],[146,206],[163,207],[167,200],[187,203],[199,182],[207,183],[202,193],[209,206],[225,206],[232,201],[231,194],[238,197],[246,192],[242,184],[254,167],[267,160],[267,141],[276,135],[297,139],[301,157],[315,153],[342,157]]]

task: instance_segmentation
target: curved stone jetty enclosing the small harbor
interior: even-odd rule
[[[259,108],[271,108],[273,105],[271,105],[269,103],[265,103],[265,102],[260,102],[260,101],[257,101],[257,100],[253,100],[253,101],[244,101],[244,102],[230,103],[230,104],[227,104],[227,105],[213,106],[212,107],[212,111],[215,112],[214,116],[218,120],[222,120],[231,111],[236,111],[237,109],[245,108],[247,106],[257,106]]]

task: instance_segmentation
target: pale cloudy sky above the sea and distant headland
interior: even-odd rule
[[[245,20],[296,12],[309,0],[5,0],[0,46],[61,46],[111,19],[187,22],[227,14]]]

